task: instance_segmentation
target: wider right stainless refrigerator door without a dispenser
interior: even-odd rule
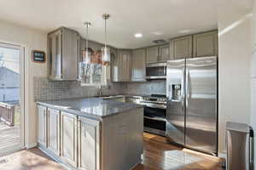
[[[185,144],[217,153],[217,58],[186,60]]]

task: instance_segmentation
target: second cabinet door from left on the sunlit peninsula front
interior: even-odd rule
[[[48,109],[48,149],[60,156],[61,111]]]

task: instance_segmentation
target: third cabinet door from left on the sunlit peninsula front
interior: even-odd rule
[[[77,167],[77,116],[61,112],[61,159]]]

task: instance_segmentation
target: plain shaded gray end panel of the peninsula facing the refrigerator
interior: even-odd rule
[[[143,153],[143,108],[131,110],[102,122],[102,167],[132,169]],[[140,133],[138,133],[140,132]],[[118,162],[118,163],[117,163]]]

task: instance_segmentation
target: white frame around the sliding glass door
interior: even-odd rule
[[[26,117],[27,117],[27,105],[25,105],[25,101],[27,99],[26,97],[26,71],[27,68],[27,60],[25,59],[26,54],[26,47],[20,44],[14,44],[9,42],[3,42],[0,40],[0,47],[3,48],[15,48],[20,51],[20,144],[17,145],[14,148],[10,148],[9,150],[1,151],[0,155],[6,155],[8,153],[11,153],[15,150],[21,150],[25,148],[25,142],[26,142]]]

